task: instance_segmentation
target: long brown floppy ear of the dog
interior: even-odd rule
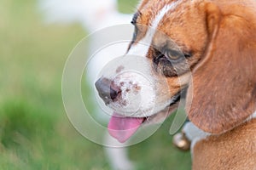
[[[256,111],[256,18],[238,13],[206,5],[207,49],[192,71],[186,110],[208,133],[224,133]]]

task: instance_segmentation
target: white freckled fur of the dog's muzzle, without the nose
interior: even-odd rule
[[[124,70],[110,77],[113,86],[121,91],[108,106],[122,116],[151,116],[170,105],[168,83],[165,77],[157,77],[146,57],[125,55],[119,60]]]

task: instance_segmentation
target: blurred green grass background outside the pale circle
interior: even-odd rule
[[[137,6],[118,3],[123,13]],[[110,169],[102,146],[68,121],[61,99],[65,61],[89,31],[43,18],[36,0],[0,1],[0,169]],[[171,121],[130,147],[137,169],[190,169],[189,152],[172,145]]]

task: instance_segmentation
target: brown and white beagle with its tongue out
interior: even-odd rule
[[[109,133],[125,142],[185,92],[192,168],[256,169],[256,1],[143,0],[131,23],[123,58],[149,81],[124,62],[96,82]]]

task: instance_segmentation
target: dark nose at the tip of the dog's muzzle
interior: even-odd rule
[[[111,81],[107,78],[100,78],[97,80],[95,87],[106,105],[116,99],[119,95],[119,90],[113,89],[111,87]]]

